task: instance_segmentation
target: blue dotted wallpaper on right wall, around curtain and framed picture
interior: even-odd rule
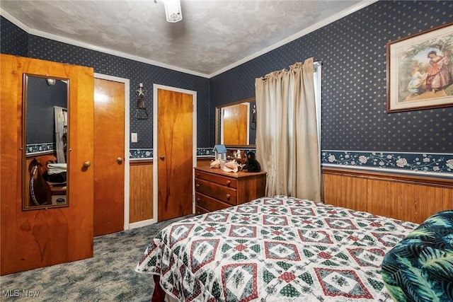
[[[452,153],[453,107],[386,113],[386,43],[452,21],[453,1],[379,1],[215,76],[212,108],[251,98],[255,78],[314,57],[323,150]]]

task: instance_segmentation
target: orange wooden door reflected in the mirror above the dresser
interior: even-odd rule
[[[248,145],[248,104],[231,105],[222,109],[223,144]]]

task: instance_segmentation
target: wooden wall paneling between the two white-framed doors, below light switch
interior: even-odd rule
[[[153,163],[130,161],[129,221],[144,221],[153,215]]]

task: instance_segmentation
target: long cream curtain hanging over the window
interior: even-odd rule
[[[321,201],[313,58],[256,79],[256,156],[266,195]]]

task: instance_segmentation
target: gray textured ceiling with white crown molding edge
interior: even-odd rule
[[[163,0],[1,0],[28,33],[210,77],[374,1],[181,0],[168,23]]]

